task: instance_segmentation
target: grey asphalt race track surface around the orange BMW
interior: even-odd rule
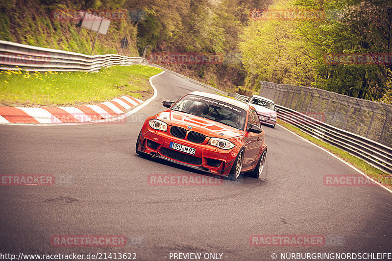
[[[152,83],[157,97],[125,123],[0,125],[0,174],[71,177],[65,185],[0,186],[0,253],[136,253],[137,260],[223,253],[223,260],[237,261],[272,260],[272,253],[281,260],[288,251],[391,252],[391,192],[325,186],[325,175],[358,173],[278,125],[263,127],[266,181],[244,176],[221,186],[149,185],[150,174],[200,173],[136,155],[143,121],[164,109],[162,100],[202,90],[168,73]],[[125,247],[54,247],[55,235],[141,240]],[[328,243],[251,246],[252,235],[322,235]]]

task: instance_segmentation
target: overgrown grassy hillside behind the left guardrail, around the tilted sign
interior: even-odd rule
[[[120,5],[110,6],[100,1],[91,1],[90,4],[77,2],[0,0],[0,40],[90,54],[97,33],[77,27],[74,17],[55,16],[54,12],[119,10]],[[123,11],[126,13],[126,10]],[[131,20],[114,19],[107,35],[98,35],[93,54],[121,54],[120,41],[127,36],[129,46],[124,49],[123,55],[139,56],[136,33],[136,26]]]

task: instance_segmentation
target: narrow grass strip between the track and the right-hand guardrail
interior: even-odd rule
[[[389,175],[388,173],[369,165],[365,161],[348,154],[348,152],[346,152],[340,148],[337,148],[337,147],[332,146],[326,142],[322,142],[316,138],[313,138],[312,136],[302,132],[299,128],[296,128],[289,123],[283,122],[282,120],[279,120],[279,119],[278,119],[277,123],[279,123],[281,126],[285,127],[286,129],[291,130],[295,134],[298,134],[299,136],[305,138],[306,140],[313,142],[316,145],[328,150],[329,152],[331,152],[334,155],[338,156],[339,158],[343,159],[345,162],[358,168],[359,170],[361,170],[363,173],[365,173],[369,177],[380,182],[384,186],[386,186],[390,189],[392,188],[392,176]]]

